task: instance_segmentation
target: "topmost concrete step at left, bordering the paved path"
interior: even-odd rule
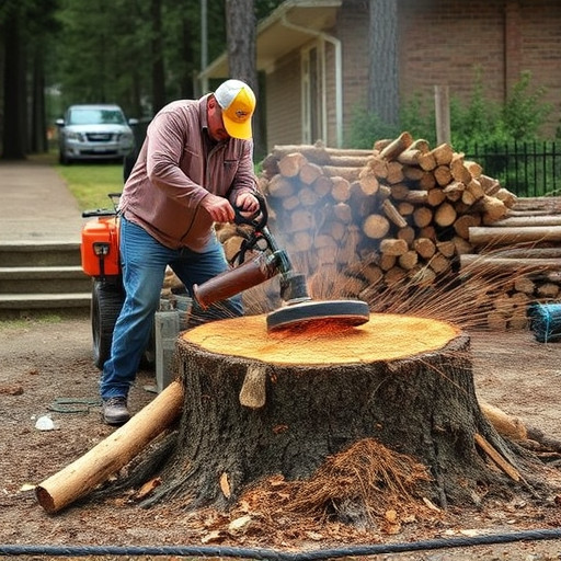
[[[68,241],[0,241],[2,267],[80,265],[80,243]]]

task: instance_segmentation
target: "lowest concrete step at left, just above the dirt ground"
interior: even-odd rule
[[[0,319],[37,313],[89,314],[90,293],[0,294]]]

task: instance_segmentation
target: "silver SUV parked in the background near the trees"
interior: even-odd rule
[[[57,119],[59,161],[117,160],[131,152],[135,144],[129,125],[118,105],[71,105]]]

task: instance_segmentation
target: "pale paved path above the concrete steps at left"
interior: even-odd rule
[[[0,242],[80,242],[84,219],[47,163],[0,161]]]

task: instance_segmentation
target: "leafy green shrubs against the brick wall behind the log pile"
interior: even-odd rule
[[[541,158],[553,147],[536,144],[539,130],[551,112],[542,102],[543,88],[531,88],[530,73],[520,73],[504,104],[485,98],[481,69],[476,68],[473,90],[467,102],[450,98],[450,135],[455,150],[476,158],[488,175],[519,196],[542,196],[559,191],[561,176],[554,159]],[[396,138],[408,130],[436,146],[433,99],[413,94],[401,105],[400,126],[388,127],[377,115],[355,108],[347,146],[371,148],[376,140]],[[561,137],[561,127],[558,130]]]

